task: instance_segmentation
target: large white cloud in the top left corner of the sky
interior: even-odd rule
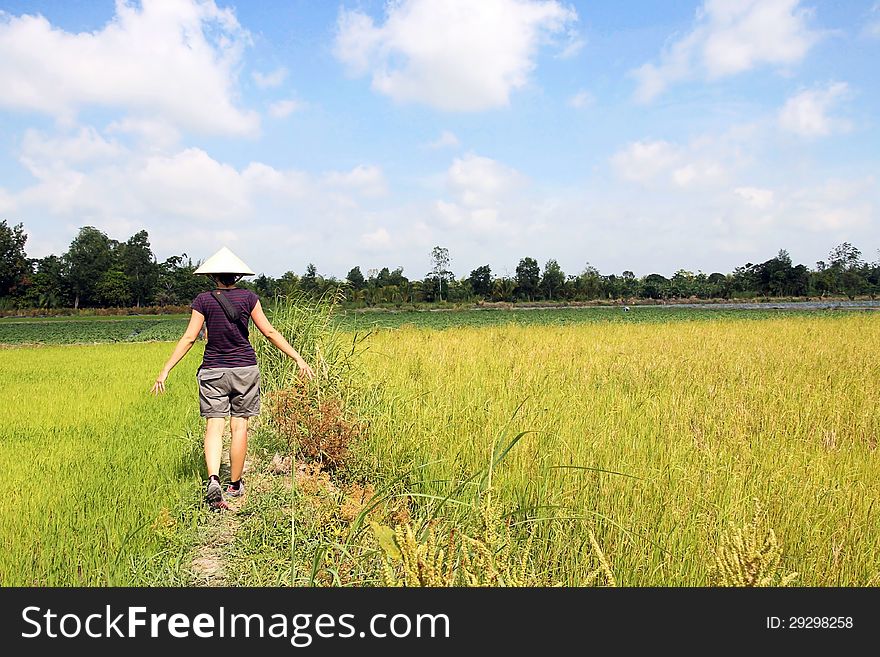
[[[80,108],[109,107],[198,132],[254,134],[258,116],[234,102],[248,42],[213,0],[120,1],[101,30],[80,33],[0,14],[0,107],[67,121]]]

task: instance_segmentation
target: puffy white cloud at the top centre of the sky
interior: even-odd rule
[[[556,0],[400,0],[388,2],[381,25],[342,10],[334,51],[396,101],[478,111],[506,106],[542,43],[576,20]]]

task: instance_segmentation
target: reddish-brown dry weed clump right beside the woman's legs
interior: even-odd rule
[[[334,397],[317,400],[305,387],[287,388],[268,396],[272,424],[306,461],[322,469],[339,468],[360,426],[345,417],[342,402]]]

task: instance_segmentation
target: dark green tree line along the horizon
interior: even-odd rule
[[[0,221],[0,309],[106,308],[188,305],[210,281],[196,276],[198,262],[186,253],[157,260],[147,231],[124,242],[92,226],[80,228],[60,256],[28,258],[22,224]],[[322,276],[309,263],[305,272],[288,271],[278,278],[261,274],[244,287],[272,298],[277,294],[320,296],[342,290],[357,306],[475,301],[591,301],[626,299],[749,299],[755,297],[855,298],[880,294],[880,259],[866,262],[848,242],[834,247],[815,268],[793,264],[785,250],[762,263],[746,263],[730,273],[705,274],[679,269],[671,277],[632,271],[602,274],[587,264],[566,275],[556,260],[543,268],[530,257],[520,259],[512,276],[495,276],[489,265],[456,277],[446,248],[430,253],[431,269],[410,279],[403,268],[353,267],[343,280]]]

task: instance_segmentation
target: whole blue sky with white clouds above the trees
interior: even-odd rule
[[[876,0],[0,9],[0,218],[33,257],[84,225],[275,276],[878,256]]]

